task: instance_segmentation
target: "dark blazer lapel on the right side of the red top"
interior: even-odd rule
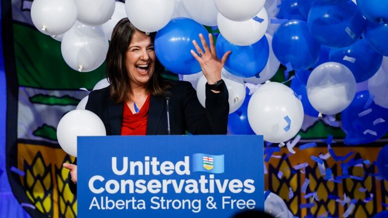
[[[150,96],[150,108],[148,109],[147,135],[156,135],[160,120],[165,108],[163,97]],[[166,127],[167,128],[167,127]]]

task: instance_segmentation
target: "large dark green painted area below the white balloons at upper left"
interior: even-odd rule
[[[80,73],[63,60],[61,42],[35,27],[14,23],[13,39],[20,86],[45,89],[93,89],[105,77],[105,63],[97,70]]]

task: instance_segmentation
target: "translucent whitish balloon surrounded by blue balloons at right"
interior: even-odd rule
[[[327,62],[312,71],[306,88],[308,100],[315,110],[333,115],[352,102],[356,94],[356,79],[345,65]]]

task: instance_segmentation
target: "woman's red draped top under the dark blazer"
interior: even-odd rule
[[[126,102],[121,123],[121,135],[145,136],[147,134],[148,109],[150,107],[150,94],[141,107],[139,113],[132,114]]]

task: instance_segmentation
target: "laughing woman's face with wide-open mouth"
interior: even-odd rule
[[[155,50],[151,37],[135,31],[125,55],[125,69],[130,82],[136,85],[148,83],[155,68]]]

